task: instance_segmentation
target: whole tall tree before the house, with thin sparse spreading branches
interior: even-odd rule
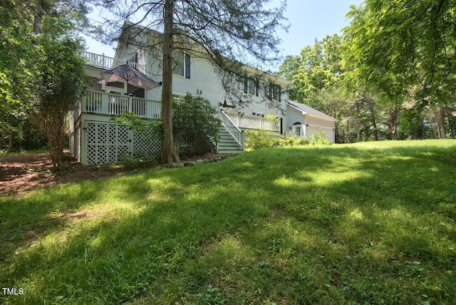
[[[124,21],[133,21],[127,27],[144,26],[162,34],[155,41],[147,39],[140,47],[150,54],[161,54],[162,61],[162,162],[172,162],[172,53],[175,50],[192,51],[207,58],[219,72],[227,96],[238,101],[232,90],[234,81],[240,82],[245,71],[241,62],[260,66],[277,59],[279,39],[275,31],[284,20],[279,8],[270,9],[269,1],[251,0],[160,0],[107,1],[100,0],[120,22],[108,22],[108,38],[119,37]],[[149,31],[147,30],[147,31]],[[132,31],[122,37],[127,43],[140,33]],[[157,52],[158,51],[158,52]],[[158,59],[158,58],[157,58]]]

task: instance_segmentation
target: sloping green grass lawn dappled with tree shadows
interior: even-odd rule
[[[6,304],[455,304],[456,141],[257,150],[0,196]],[[10,290],[11,292],[11,290]]]

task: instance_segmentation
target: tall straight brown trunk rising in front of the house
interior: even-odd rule
[[[172,163],[172,31],[174,0],[165,1],[165,33],[163,34],[162,82],[162,156],[163,163]]]

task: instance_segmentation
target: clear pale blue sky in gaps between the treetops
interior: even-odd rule
[[[279,3],[274,0],[273,3]],[[346,14],[351,4],[359,5],[362,0],[288,0],[284,16],[291,25],[289,32],[279,32],[283,43],[279,47],[282,55],[299,55],[305,46],[313,45],[326,35],[340,33],[348,25]],[[99,19],[98,13],[92,13],[91,19]],[[114,56],[113,46],[103,46],[86,38],[88,51]]]

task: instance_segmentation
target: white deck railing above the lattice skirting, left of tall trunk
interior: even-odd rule
[[[83,113],[121,115],[124,111],[129,111],[139,115],[140,118],[161,118],[161,103],[156,100],[146,100],[145,98],[103,91],[88,91],[83,96],[81,106]]]

